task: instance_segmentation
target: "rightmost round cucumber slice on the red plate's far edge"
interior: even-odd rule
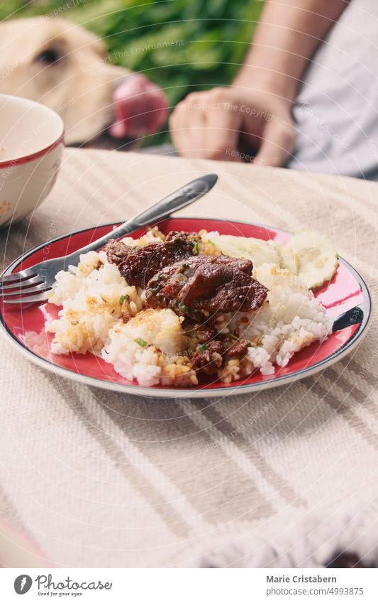
[[[279,249],[281,265],[301,278],[309,289],[320,287],[335,274],[338,253],[326,235],[298,232]]]

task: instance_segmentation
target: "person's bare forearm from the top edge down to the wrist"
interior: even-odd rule
[[[267,0],[234,85],[260,88],[289,102],[308,61],[349,0]]]

